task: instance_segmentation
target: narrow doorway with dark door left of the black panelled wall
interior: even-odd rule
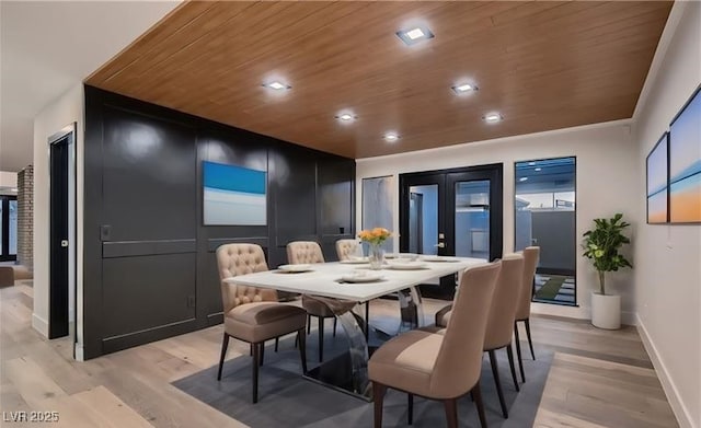
[[[48,139],[49,304],[48,338],[76,342],[76,124]],[[74,346],[73,346],[74,357]]]

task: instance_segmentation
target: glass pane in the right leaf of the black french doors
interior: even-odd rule
[[[455,255],[490,258],[490,181],[455,184]]]

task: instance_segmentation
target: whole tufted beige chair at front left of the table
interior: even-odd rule
[[[263,248],[254,244],[226,244],[217,248],[219,279],[267,270]],[[253,350],[253,403],[258,401],[258,366],[263,363],[265,340],[297,332],[302,372],[307,372],[307,313],[277,301],[275,290],[257,289],[221,281],[223,343],[217,380],[221,380],[229,337],[248,342]]]

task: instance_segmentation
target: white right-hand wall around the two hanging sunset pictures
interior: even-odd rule
[[[634,117],[639,329],[680,425],[701,427],[701,224],[647,225],[642,197],[647,153],[701,83],[700,2],[675,3],[655,62]]]

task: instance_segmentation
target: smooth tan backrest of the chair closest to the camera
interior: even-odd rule
[[[486,322],[501,269],[502,262],[497,261],[462,274],[430,375],[432,396],[460,396],[480,379]]]

